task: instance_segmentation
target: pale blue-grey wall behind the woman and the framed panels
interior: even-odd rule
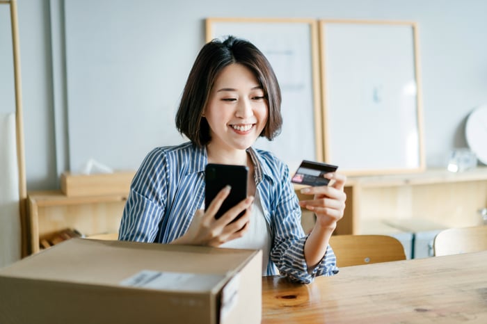
[[[466,146],[465,118],[487,103],[484,0],[17,2],[30,191],[57,188],[60,172],[90,157],[136,168],[150,148],[181,142],[174,114],[206,17],[417,22],[430,168]],[[9,21],[0,6],[0,111],[15,110]]]

